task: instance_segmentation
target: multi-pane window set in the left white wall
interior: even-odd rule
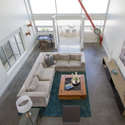
[[[14,34],[0,47],[0,60],[6,71],[13,66],[24,53],[24,50],[25,48],[20,32]]]

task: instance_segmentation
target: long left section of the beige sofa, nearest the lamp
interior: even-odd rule
[[[47,106],[55,74],[55,68],[53,66],[44,68],[42,66],[42,61],[43,55],[40,54],[17,95],[18,97],[22,95],[28,95],[29,97],[31,97],[33,107]],[[38,78],[37,80],[34,80],[39,70],[42,71],[43,77],[45,77],[42,81],[40,81]],[[36,82],[35,85],[33,81]]]

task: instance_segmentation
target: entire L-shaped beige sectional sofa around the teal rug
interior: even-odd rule
[[[44,66],[46,54],[53,55],[55,64]],[[53,78],[56,71],[84,71],[84,53],[40,53],[17,97],[28,95],[33,107],[46,107],[49,102]]]

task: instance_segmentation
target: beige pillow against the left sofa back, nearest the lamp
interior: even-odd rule
[[[31,92],[31,91],[35,91],[35,89],[37,88],[38,86],[38,78],[37,77],[34,77],[31,84],[29,85],[29,87],[26,89],[27,92]]]

